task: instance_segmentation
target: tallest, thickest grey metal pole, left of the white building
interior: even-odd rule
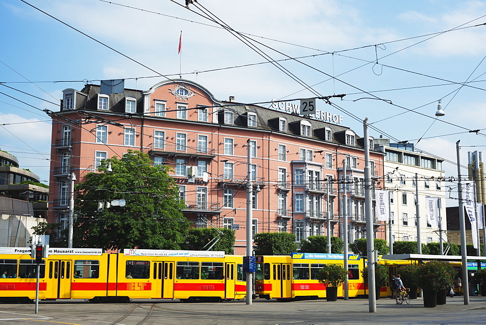
[[[368,142],[368,118],[364,119],[364,141]],[[369,146],[364,145],[364,213],[366,215],[366,256],[368,257],[368,307],[369,312],[376,312],[375,286],[375,243],[373,232],[373,204],[371,191],[371,167],[369,163]]]

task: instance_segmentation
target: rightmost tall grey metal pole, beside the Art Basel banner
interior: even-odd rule
[[[459,200],[459,228],[461,229],[461,261],[462,261],[462,287],[464,288],[464,305],[469,305],[469,279],[468,279],[468,259],[466,251],[466,222],[464,221],[464,200],[462,198],[462,182],[461,182],[461,158],[459,156],[460,147],[456,142],[456,155],[457,155],[457,194]]]

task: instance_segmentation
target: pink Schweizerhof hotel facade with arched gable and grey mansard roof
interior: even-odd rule
[[[326,235],[329,203],[332,234],[341,236],[344,160],[352,242],[364,237],[364,145],[373,148],[373,138],[360,138],[342,120],[321,111],[299,116],[290,103],[220,101],[188,80],[109,95],[96,85],[66,89],[52,114],[50,221],[67,222],[71,172],[83,181],[103,159],[139,150],[174,168],[183,213],[195,227],[234,229],[235,253],[244,254],[248,143],[254,234],[294,232],[297,242]],[[383,156],[371,149],[373,179],[383,175]],[[384,238],[380,222],[375,237]]]

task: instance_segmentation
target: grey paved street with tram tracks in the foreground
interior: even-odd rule
[[[367,299],[278,303],[180,303],[177,300],[134,300],[126,304],[89,304],[80,300],[0,305],[2,324],[486,324],[486,297],[448,298],[447,305],[424,308],[419,298],[410,305],[377,301],[368,312]],[[121,319],[123,316],[126,318]]]

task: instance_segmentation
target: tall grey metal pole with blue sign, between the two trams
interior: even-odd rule
[[[246,141],[246,256],[253,256],[252,236],[252,194],[253,184],[251,180],[251,145],[250,139]],[[246,272],[246,305],[251,305],[253,300],[253,273]]]

